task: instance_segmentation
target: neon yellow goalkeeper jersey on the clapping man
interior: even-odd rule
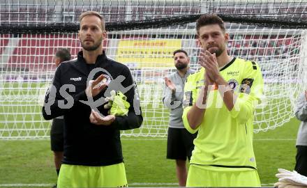
[[[217,87],[207,96],[207,108],[197,130],[188,125],[187,113],[204,84],[204,68],[187,78],[184,88],[184,127],[197,132],[190,164],[256,169],[253,152],[253,117],[263,91],[262,73],[253,61],[233,58],[220,69],[237,100],[228,111]],[[242,169],[243,170],[243,169]]]

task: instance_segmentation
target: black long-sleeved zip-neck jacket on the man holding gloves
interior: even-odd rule
[[[121,91],[130,103],[127,116],[116,116],[108,126],[90,122],[93,102],[90,104],[85,94],[89,80],[101,74],[110,83],[93,97],[98,111],[108,115],[103,104],[110,90]],[[123,162],[120,130],[140,127],[143,120],[136,88],[128,67],[107,58],[105,52],[97,57],[94,65],[86,63],[82,52],[76,59],[59,65],[45,95],[43,116],[46,120],[64,116],[64,164],[107,166]]]

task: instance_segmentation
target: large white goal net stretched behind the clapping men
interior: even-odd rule
[[[54,75],[54,52],[80,51],[78,17],[96,10],[105,17],[109,58],[128,65],[140,93],[144,123],[123,136],[165,137],[169,111],[163,107],[163,77],[174,72],[172,52],[185,49],[198,70],[195,20],[216,13],[225,21],[231,56],[257,61],[264,77],[264,103],[254,131],[282,126],[294,116],[307,82],[307,3],[280,1],[1,1],[0,139],[47,139],[45,90]]]

